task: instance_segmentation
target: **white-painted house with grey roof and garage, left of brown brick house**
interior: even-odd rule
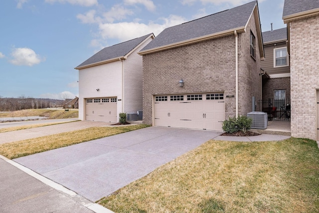
[[[117,122],[119,113],[142,110],[142,56],[152,39],[148,34],[106,47],[81,63],[79,119]]]

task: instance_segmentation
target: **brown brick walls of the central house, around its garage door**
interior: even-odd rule
[[[256,36],[256,61],[250,56],[250,28]],[[260,98],[260,55],[252,18],[239,41],[239,114]],[[143,55],[143,122],[152,124],[152,97],[163,94],[224,92],[235,96],[235,35]],[[184,80],[179,87],[178,81]],[[235,116],[235,98],[225,98],[225,118]]]

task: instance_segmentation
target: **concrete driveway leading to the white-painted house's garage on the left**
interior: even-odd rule
[[[54,122],[54,120],[52,120]],[[0,133],[0,144],[10,143],[14,141],[37,138],[47,135],[53,135],[63,132],[71,132],[75,130],[86,129],[90,127],[107,126],[113,123],[99,121],[76,121],[64,124],[56,124],[51,126],[36,127],[32,129],[17,130],[11,132]]]

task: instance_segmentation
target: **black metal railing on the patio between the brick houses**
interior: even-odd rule
[[[290,121],[291,104],[290,99],[259,100],[256,111],[267,112],[269,121]]]

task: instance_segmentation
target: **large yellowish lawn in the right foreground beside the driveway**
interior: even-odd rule
[[[98,203],[117,213],[316,213],[319,149],[297,138],[211,140]]]

